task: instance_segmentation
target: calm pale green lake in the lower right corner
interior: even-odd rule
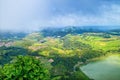
[[[120,55],[114,54],[80,67],[94,80],[120,80]]]

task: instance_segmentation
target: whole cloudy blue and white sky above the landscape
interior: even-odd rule
[[[120,0],[0,0],[0,30],[119,26]]]

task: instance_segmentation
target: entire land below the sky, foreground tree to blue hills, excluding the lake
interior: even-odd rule
[[[49,28],[0,33],[0,80],[92,80],[80,66],[120,53],[120,30]]]

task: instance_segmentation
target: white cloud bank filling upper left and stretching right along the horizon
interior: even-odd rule
[[[120,25],[120,5],[102,5],[97,14],[54,15],[50,3],[50,0],[0,0],[0,30],[35,31],[45,26]]]

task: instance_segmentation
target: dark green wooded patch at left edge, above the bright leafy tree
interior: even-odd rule
[[[28,50],[21,47],[0,47],[0,64],[10,62],[15,56],[26,55]]]

